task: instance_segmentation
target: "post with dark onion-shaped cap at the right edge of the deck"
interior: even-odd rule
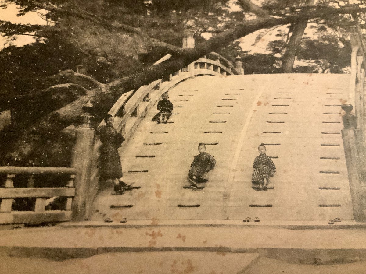
[[[359,155],[355,136],[356,117],[351,114],[353,106],[343,104],[342,109],[346,111],[343,116],[343,127],[341,130],[343,138],[344,155],[346,157],[348,180],[350,183],[351,200],[355,221],[366,221],[366,199],[365,190],[360,180]]]

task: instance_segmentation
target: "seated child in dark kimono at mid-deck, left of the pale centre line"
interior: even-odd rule
[[[197,183],[208,181],[207,172],[212,170],[216,164],[214,157],[206,152],[206,146],[204,144],[198,145],[198,151],[199,154],[194,156],[191,169],[188,171],[188,178],[190,179],[192,189],[197,189]]]

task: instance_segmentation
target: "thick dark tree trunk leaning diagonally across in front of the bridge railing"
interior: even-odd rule
[[[329,14],[351,13],[352,11],[365,12],[366,8],[346,7],[335,9],[321,7],[301,15],[287,16],[284,18],[266,17],[238,24],[230,30],[212,37],[193,49],[184,49],[183,54],[172,54],[172,58],[163,63],[149,66],[134,75],[98,87],[94,90],[94,94],[91,97],[91,103],[94,104],[97,110],[95,115],[98,119],[101,119],[101,117],[111,109],[116,100],[125,92],[178,71],[180,68],[187,66],[198,58],[220,49],[232,41],[253,33],[254,31],[277,25],[295,23],[299,20],[327,16]],[[41,140],[44,140],[47,136],[52,136],[52,134],[66,128],[68,125],[71,125],[71,123],[78,121],[80,115],[83,113],[81,107],[87,102],[88,98],[87,95],[81,96],[67,106],[52,112],[48,117],[37,121],[24,132],[19,140],[12,144],[12,151],[14,153],[8,153],[8,159],[12,160],[14,157],[26,159],[33,153],[34,149],[40,149],[39,144]]]

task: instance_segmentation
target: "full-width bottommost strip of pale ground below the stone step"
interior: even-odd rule
[[[223,256],[215,252],[124,252],[64,261],[0,257],[0,269],[1,273],[24,274],[364,274],[366,261],[298,265],[259,257],[258,254]]]

